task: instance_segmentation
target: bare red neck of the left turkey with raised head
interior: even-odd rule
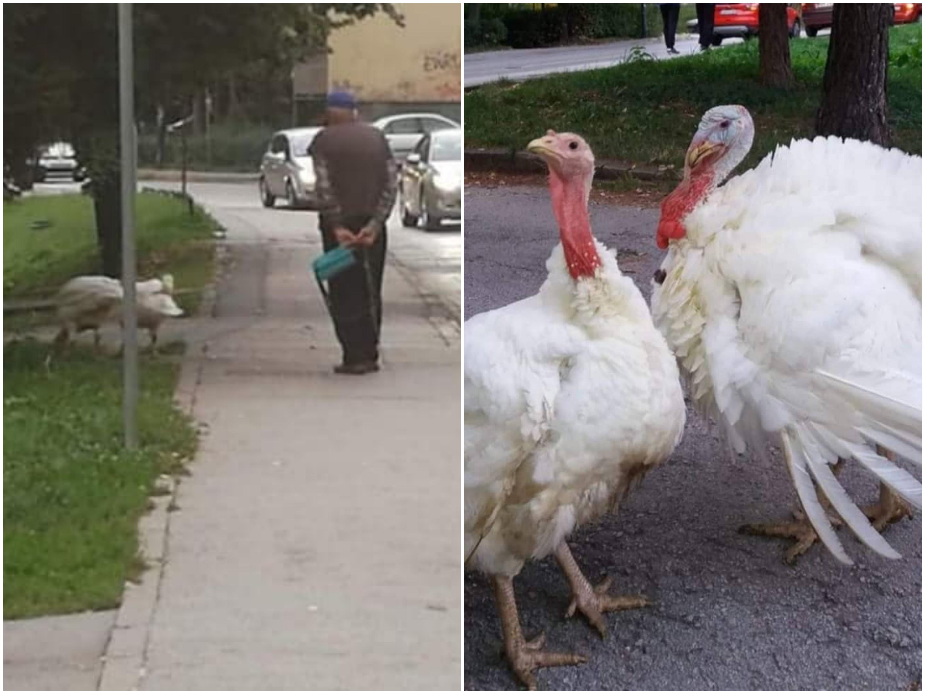
[[[600,266],[600,256],[587,216],[585,181],[575,177],[562,179],[550,168],[549,194],[552,210],[559,221],[559,236],[569,274],[572,279],[593,277]]]

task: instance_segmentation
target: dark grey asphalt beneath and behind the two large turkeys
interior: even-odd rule
[[[468,69],[468,58],[467,58]],[[466,189],[465,316],[536,291],[558,241],[541,188]],[[618,250],[623,272],[648,298],[661,253],[657,211],[592,205],[598,239]],[[921,517],[889,527],[903,554],[882,559],[839,531],[851,567],[820,546],[795,568],[783,540],[736,533],[748,522],[783,518],[796,502],[783,462],[731,459],[719,434],[693,412],[672,459],[648,475],[619,514],[583,527],[570,545],[593,582],[642,592],[655,605],[606,615],[598,637],[582,619],[563,619],[569,589],[551,558],[514,581],[524,636],[546,631],[547,648],[589,657],[539,671],[545,689],[905,689],[921,681]],[[876,498],[857,468],[842,477],[856,499]],[[493,592],[465,576],[464,687],[512,689],[501,654]]]

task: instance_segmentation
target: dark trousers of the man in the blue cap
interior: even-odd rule
[[[368,217],[347,217],[343,226],[353,232],[363,229]],[[334,229],[321,219],[325,251],[337,248]],[[382,273],[386,264],[386,230],[382,229],[370,248],[356,249],[357,263],[328,282],[334,330],[343,350],[344,364],[377,361],[379,330],[382,326]],[[369,275],[364,268],[369,267]]]

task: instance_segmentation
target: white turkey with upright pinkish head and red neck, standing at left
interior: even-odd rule
[[[567,615],[578,609],[601,636],[602,613],[646,604],[608,595],[609,580],[592,587],[566,538],[671,455],[685,403],[645,299],[591,234],[591,150],[551,130],[528,148],[549,166],[561,244],[536,295],[464,326],[465,552],[492,576],[508,660],[536,688],[537,667],[585,658],[524,639],[513,577],[555,554],[573,592]]]

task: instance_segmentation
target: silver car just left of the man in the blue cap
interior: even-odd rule
[[[279,130],[270,139],[260,164],[260,200],[265,207],[285,198],[290,208],[316,207],[314,165],[308,148],[321,128]]]

